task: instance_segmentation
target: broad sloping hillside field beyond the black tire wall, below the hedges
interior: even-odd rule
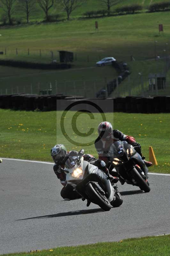
[[[147,2],[147,1],[145,1]],[[78,12],[78,9],[77,9]],[[96,19],[95,19],[96,20]],[[6,93],[17,91],[23,92],[24,86],[30,92],[30,84],[34,87],[34,92],[38,91],[38,83],[41,89],[46,89],[50,82],[55,84],[55,80],[61,83],[61,92],[64,81],[80,80],[102,80],[105,77],[112,80],[116,77],[116,72],[111,67],[104,69],[95,68],[97,60],[105,56],[113,56],[118,61],[126,61],[131,67],[134,77],[133,87],[138,85],[136,72],[148,73],[155,67],[154,61],[146,61],[154,58],[156,43],[156,54],[165,57],[169,55],[169,12],[139,13],[134,15],[121,15],[97,19],[99,23],[99,33],[95,33],[94,19],[75,19],[59,23],[40,23],[33,25],[19,25],[1,28],[0,50],[6,55],[1,55],[2,59],[26,60],[50,62],[52,50],[54,59],[58,60],[58,50],[73,51],[77,60],[73,62],[74,68],[84,68],[77,70],[51,71],[49,70],[27,70],[24,68],[1,68],[1,90]],[[158,33],[158,23],[164,25],[164,35]],[[16,55],[16,48],[18,55]],[[29,48],[30,55],[27,51]],[[39,56],[41,49],[42,55]],[[166,52],[164,51],[166,49]],[[130,62],[133,55],[135,62]],[[94,67],[94,69],[88,69]],[[145,77],[147,81],[147,77]],[[79,82],[77,82],[79,83]],[[72,84],[72,82],[70,83]],[[88,82],[87,82],[88,84]],[[124,82],[127,86],[127,79]],[[81,87],[79,85],[78,87]],[[77,88],[78,88],[77,87]],[[91,89],[91,83],[88,86]],[[100,86],[99,86],[100,87]],[[73,86],[67,86],[68,94],[73,94]],[[121,84],[121,88],[124,85]],[[123,90],[123,89],[122,89]],[[138,88],[135,89],[137,93]],[[163,92],[165,94],[165,92]],[[79,94],[79,93],[78,93]],[[92,96],[94,93],[92,93]],[[90,95],[91,96],[91,95]]]

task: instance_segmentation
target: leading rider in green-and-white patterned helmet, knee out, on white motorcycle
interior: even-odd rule
[[[53,170],[55,174],[57,175],[57,178],[60,180],[61,184],[64,186],[61,189],[60,195],[64,198],[64,200],[73,200],[81,198],[82,196],[76,192],[76,190],[73,189],[73,187],[70,184],[67,184],[66,182],[66,174],[63,172],[63,169],[65,168],[66,160],[69,156],[80,156],[82,151],[67,151],[66,147],[63,144],[55,145],[53,148],[51,148],[51,156],[54,161]],[[90,164],[96,165],[101,170],[105,171],[111,180],[111,182],[116,183],[118,182],[117,177],[113,177],[111,174],[109,174],[108,169],[106,171],[106,168],[101,166],[101,160],[96,159],[94,156],[89,154],[83,155],[84,160],[88,161]],[[104,169],[103,169],[104,168]]]

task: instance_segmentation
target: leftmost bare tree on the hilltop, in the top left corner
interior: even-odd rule
[[[12,14],[15,11],[15,2],[16,0],[0,0],[2,9],[4,10],[5,15],[8,17],[9,24],[12,24]]]

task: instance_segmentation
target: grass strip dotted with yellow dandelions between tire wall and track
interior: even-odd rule
[[[0,156],[41,161],[52,161],[50,149],[56,143],[63,143],[68,150],[84,148],[87,153],[97,157],[94,144],[97,138],[97,126],[102,122],[100,114],[90,119],[87,113],[77,118],[77,129],[84,133],[83,137],[73,132],[71,120],[74,111],[69,111],[64,119],[66,134],[80,145],[74,145],[65,138],[60,128],[61,111],[26,112],[0,110]],[[150,172],[170,173],[169,159],[169,120],[170,114],[128,114],[106,113],[106,120],[125,134],[132,135],[142,146],[143,155],[149,158],[149,146],[153,147],[158,166],[152,166]],[[90,128],[93,133],[86,136]],[[89,145],[81,146],[82,143]]]

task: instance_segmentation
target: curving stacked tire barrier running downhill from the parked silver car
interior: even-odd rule
[[[117,86],[117,83],[120,84],[128,75],[130,75],[130,71],[127,63],[112,61],[112,67],[115,68],[117,72],[119,72],[119,76],[117,78],[114,78],[109,83],[107,83],[108,96],[114,91],[114,89]],[[97,92],[96,97],[102,98],[105,93],[106,93],[106,88],[103,87],[100,89],[100,91]]]

